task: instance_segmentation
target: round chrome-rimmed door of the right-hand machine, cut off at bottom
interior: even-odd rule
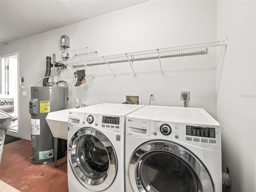
[[[138,147],[129,165],[134,192],[214,192],[205,166],[186,148],[169,141]]]

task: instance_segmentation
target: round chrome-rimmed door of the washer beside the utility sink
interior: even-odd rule
[[[68,159],[77,180],[89,190],[105,190],[116,177],[114,148],[108,138],[94,128],[81,128],[72,136]]]

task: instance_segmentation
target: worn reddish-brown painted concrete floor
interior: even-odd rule
[[[42,165],[29,160],[30,156],[31,142],[28,140],[4,145],[0,167],[2,192],[12,192],[7,189],[10,186],[20,192],[68,192],[66,156],[57,161],[57,168],[54,162]]]

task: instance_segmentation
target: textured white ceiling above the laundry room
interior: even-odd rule
[[[7,44],[146,1],[0,0],[0,43]]]

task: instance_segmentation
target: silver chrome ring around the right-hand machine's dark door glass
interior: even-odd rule
[[[134,192],[158,192],[153,186],[143,182],[140,172],[143,161],[153,153],[165,153],[175,156],[186,164],[187,168],[194,174],[197,182],[197,192],[214,192],[212,179],[204,164],[188,149],[166,140],[152,140],[146,142],[134,151],[129,164],[130,183]]]

